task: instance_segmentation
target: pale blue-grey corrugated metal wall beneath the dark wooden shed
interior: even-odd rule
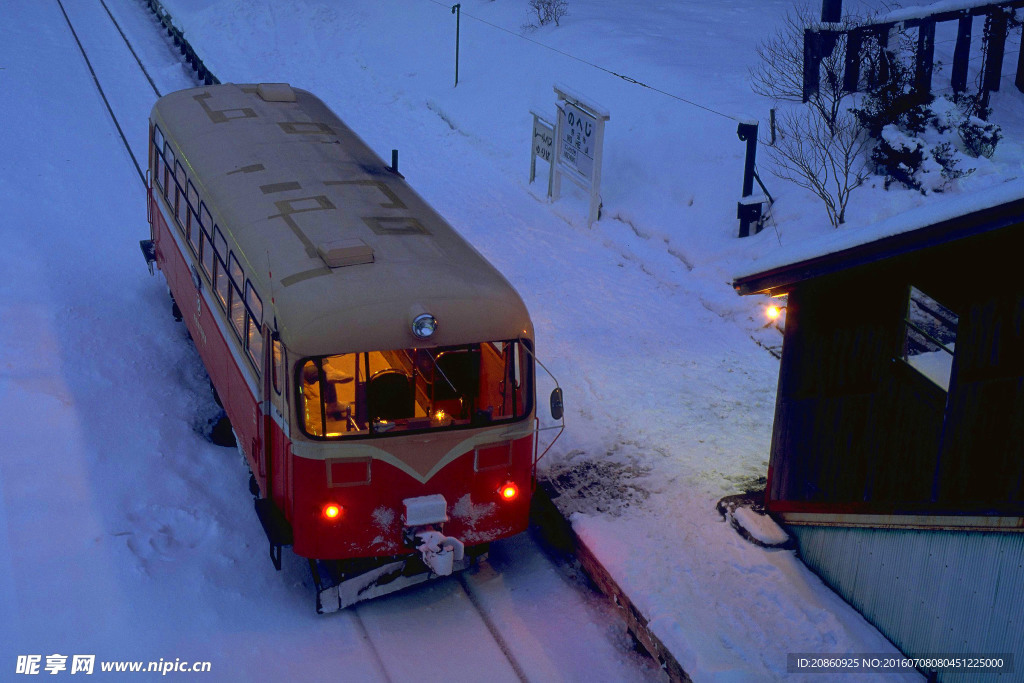
[[[904,654],[1012,652],[1024,681],[1024,533],[798,526],[804,561]]]

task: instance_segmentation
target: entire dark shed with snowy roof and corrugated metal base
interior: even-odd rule
[[[993,655],[920,668],[941,683],[1020,680],[1024,660],[1021,195],[734,282],[786,297],[767,509],[907,656]]]

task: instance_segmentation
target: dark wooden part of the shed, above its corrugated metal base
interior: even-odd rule
[[[734,287],[786,297],[770,512],[1024,531],[1024,199]]]

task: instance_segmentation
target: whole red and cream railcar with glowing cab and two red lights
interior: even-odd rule
[[[309,559],[318,611],[526,527],[529,315],[396,169],[286,84],[162,97],[148,159],[143,253],[252,470],[271,559]]]

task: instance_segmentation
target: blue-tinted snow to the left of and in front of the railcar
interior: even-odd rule
[[[144,155],[153,90],[99,3],[63,4]],[[160,87],[188,85],[139,6],[111,4],[173,65]],[[142,183],[57,3],[6,5],[2,34],[0,680],[51,663],[77,680],[77,655],[104,680],[135,661],[209,663],[167,675],[216,681],[656,675],[527,536],[461,580],[317,616],[308,567],[269,562],[238,453],[200,433],[206,375],[142,263]]]

